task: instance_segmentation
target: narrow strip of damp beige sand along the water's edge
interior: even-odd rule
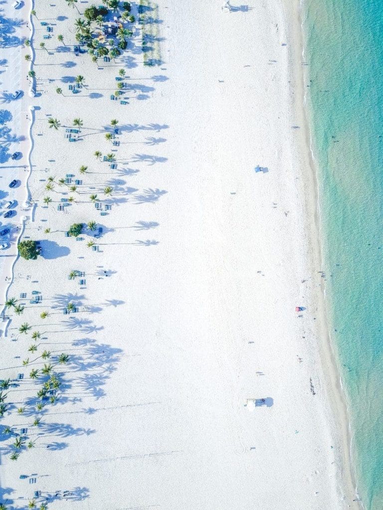
[[[320,205],[318,196],[317,167],[312,152],[312,133],[310,132],[306,105],[305,90],[305,72],[302,64],[302,56],[304,55],[304,40],[302,27],[302,6],[297,1],[292,6],[285,0],[282,0],[283,11],[288,27],[288,33],[293,38],[293,43],[289,48],[290,64],[293,68],[291,77],[294,80],[291,86],[292,100],[292,117],[294,121],[298,120],[298,125],[303,129],[299,130],[297,140],[297,150],[301,157],[301,173],[304,174],[306,182],[303,184],[304,203],[306,212],[306,221],[309,245],[308,257],[310,265],[312,265],[313,275],[318,268],[323,269],[323,250],[320,241],[321,235],[321,218]],[[293,94],[295,97],[293,97]],[[313,221],[309,221],[313,220]],[[318,265],[318,268],[316,267]],[[313,291],[312,297],[318,305],[317,314],[320,320],[317,322],[318,337],[322,339],[319,345],[320,357],[322,362],[323,373],[327,379],[326,393],[332,407],[334,419],[336,420],[335,432],[339,436],[342,446],[341,452],[338,453],[339,468],[345,483],[347,492],[353,498],[359,498],[357,492],[357,482],[355,475],[355,467],[352,462],[352,433],[350,429],[350,420],[348,414],[348,406],[346,395],[342,386],[342,374],[337,364],[336,354],[331,343],[328,312],[325,299],[325,287],[320,286],[319,291]],[[364,506],[362,502],[357,503],[360,509]]]

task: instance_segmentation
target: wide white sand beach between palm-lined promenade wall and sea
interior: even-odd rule
[[[90,2],[33,6],[36,97],[22,97],[22,111],[34,107],[32,206],[21,238],[42,252],[16,261],[7,291],[25,309],[9,307],[2,328],[0,378],[16,382],[0,421],[0,502],[26,508],[37,491],[37,507],[58,510],[356,508],[291,12],[277,1],[229,12],[223,0],[158,0],[140,25],[131,4],[127,49],[97,64],[74,52],[77,9]],[[17,16],[28,21],[28,9]],[[119,69],[124,94],[111,100]],[[78,75],[85,86],[74,94]],[[95,232],[66,237],[90,221]],[[64,313],[68,303],[75,312]],[[38,409],[44,364],[61,386]]]

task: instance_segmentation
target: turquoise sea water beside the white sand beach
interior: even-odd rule
[[[303,0],[330,330],[358,490],[383,509],[383,0]]]

